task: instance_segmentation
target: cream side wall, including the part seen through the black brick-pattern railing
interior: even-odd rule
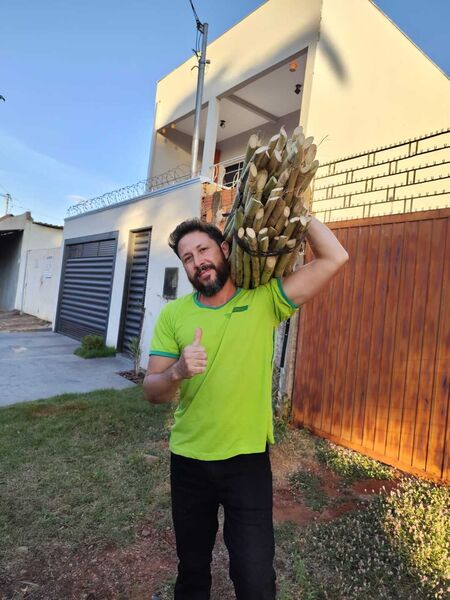
[[[329,44],[336,49],[330,53]],[[324,0],[320,40],[317,46],[312,80],[308,133],[322,140],[318,158],[321,163],[361,151],[376,150],[441,130],[448,125],[450,86],[448,78],[436,67],[372,2],[369,0]],[[449,136],[419,142],[419,150],[449,143]],[[378,151],[375,162],[404,156],[407,146]],[[449,195],[436,196],[436,191],[449,188],[449,179],[422,182],[449,174],[449,149],[399,161],[399,171],[417,170],[415,185],[412,172],[376,178],[374,188],[398,187],[354,195],[343,209],[343,198],[327,200],[325,185],[339,184],[345,174],[316,180],[314,209],[328,209],[327,220],[359,218],[370,215],[439,208],[449,203]],[[367,156],[336,165],[337,171],[367,164]],[[389,172],[389,164],[354,172],[355,180]],[[318,176],[327,172],[321,168]],[[402,185],[403,184],[403,185]],[[365,189],[365,182],[335,187],[330,195],[351,194]],[[428,196],[427,196],[428,194]],[[409,200],[405,198],[424,196]],[[392,202],[384,199],[399,198]],[[332,209],[337,210],[332,210]],[[323,214],[318,215],[321,218]]]

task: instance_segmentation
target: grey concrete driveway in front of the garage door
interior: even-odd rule
[[[124,389],[134,383],[117,375],[132,361],[79,358],[79,342],[52,331],[0,332],[0,406],[69,392]]]

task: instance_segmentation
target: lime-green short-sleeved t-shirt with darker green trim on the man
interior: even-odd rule
[[[272,279],[254,290],[238,288],[222,306],[205,306],[193,293],[162,309],[150,354],[178,358],[198,327],[207,354],[206,371],[180,386],[170,436],[174,454],[223,460],[273,444],[275,331],[297,308],[281,279]]]

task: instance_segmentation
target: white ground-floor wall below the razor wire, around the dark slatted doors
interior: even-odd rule
[[[194,179],[154,192],[139,200],[90,212],[80,217],[72,217],[65,221],[65,240],[110,231],[119,232],[106,336],[107,344],[113,346],[117,346],[119,335],[129,232],[145,227],[152,228],[142,330],[143,367],[147,364],[147,350],[156,317],[166,302],[162,297],[164,269],[179,267],[178,296],[192,291],[181,262],[169,248],[167,240],[178,223],[200,215],[201,196],[202,184],[199,179]]]

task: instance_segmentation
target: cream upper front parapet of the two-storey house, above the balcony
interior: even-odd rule
[[[212,103],[242,82],[313,46],[319,31],[321,4],[322,0],[269,0],[211,42],[203,103]],[[194,110],[197,78],[196,70],[191,69],[195,64],[193,57],[158,82],[154,160],[150,157],[149,161],[152,175],[158,174],[157,165],[168,164],[160,156],[164,149],[154,143],[156,131]]]

